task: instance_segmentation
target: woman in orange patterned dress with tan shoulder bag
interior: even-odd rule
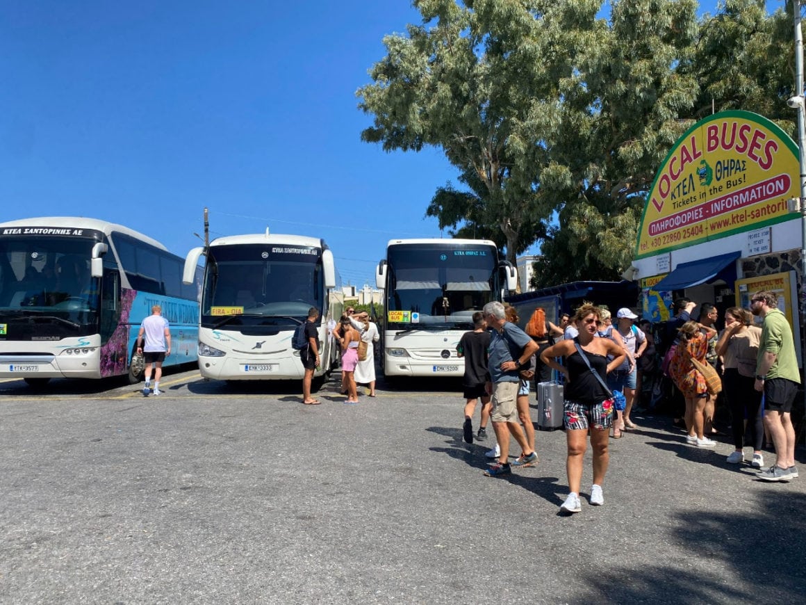
[[[713,448],[716,441],[704,436],[705,400],[708,386],[705,377],[692,364],[692,359],[707,364],[708,340],[717,333],[709,326],[696,321],[687,321],[678,329],[678,344],[669,364],[669,374],[686,400],[686,441],[698,448]]]

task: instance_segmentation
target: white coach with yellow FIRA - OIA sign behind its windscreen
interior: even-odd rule
[[[324,240],[265,234],[219,237],[193,248],[185,259],[191,279],[206,257],[198,364],[205,378],[289,380],[302,378],[294,329],[310,307],[319,311],[321,365],[314,388],[337,361],[328,322],[339,319],[344,296],[333,253]]]

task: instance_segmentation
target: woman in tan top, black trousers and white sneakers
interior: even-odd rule
[[[756,356],[761,339],[761,328],[753,325],[753,314],[740,307],[725,311],[725,329],[717,341],[717,355],[722,357],[722,390],[728,400],[732,416],[734,451],[728,456],[729,464],[742,464],[745,460],[745,419],[753,444],[750,464],[761,469],[764,465],[761,446],[764,440],[764,423],[761,413],[762,394],[754,389]]]

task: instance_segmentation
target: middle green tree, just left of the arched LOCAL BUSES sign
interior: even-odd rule
[[[696,40],[693,0],[613,2],[609,22],[575,54],[563,81],[563,138],[553,159],[571,173],[559,225],[542,242],[537,285],[618,279],[633,258],[646,191],[688,127],[699,90],[681,72]]]

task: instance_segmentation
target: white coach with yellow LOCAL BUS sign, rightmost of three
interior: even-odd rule
[[[517,286],[490,240],[390,240],[375,277],[386,376],[462,376],[456,345],[473,313]]]

